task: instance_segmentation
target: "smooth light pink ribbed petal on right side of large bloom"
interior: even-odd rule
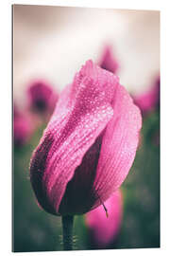
[[[94,181],[101,200],[109,198],[125,180],[133,163],[139,141],[142,118],[127,90],[119,85],[112,101],[113,118],[107,125]],[[96,207],[100,201],[95,203]]]

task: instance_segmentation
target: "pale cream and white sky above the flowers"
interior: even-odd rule
[[[27,84],[45,79],[60,92],[106,44],[120,64],[128,91],[144,91],[160,70],[160,12],[21,6],[13,8],[14,98],[24,102]]]

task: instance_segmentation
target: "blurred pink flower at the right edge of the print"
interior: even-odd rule
[[[150,112],[160,104],[160,77],[153,83],[151,88],[139,96],[133,97],[136,105],[140,107],[143,114]]]

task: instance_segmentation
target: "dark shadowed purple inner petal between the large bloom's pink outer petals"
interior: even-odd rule
[[[59,212],[85,213],[93,207],[97,195],[93,192],[93,181],[96,174],[98,158],[102,144],[103,132],[97,137],[90,149],[77,166],[75,174],[68,182]]]

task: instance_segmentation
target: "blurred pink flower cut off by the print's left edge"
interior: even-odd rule
[[[14,144],[22,146],[26,144],[33,133],[33,122],[30,115],[27,112],[19,111],[15,104],[13,112]]]

